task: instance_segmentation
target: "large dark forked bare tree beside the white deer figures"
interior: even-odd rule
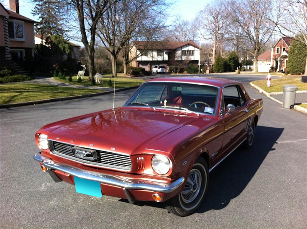
[[[89,79],[93,81],[95,75],[95,37],[97,23],[104,11],[112,4],[112,0],[66,0],[70,15],[77,13],[77,20],[82,36],[82,43],[88,55]]]

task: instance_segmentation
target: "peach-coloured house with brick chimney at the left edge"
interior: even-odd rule
[[[10,0],[10,10],[0,3],[0,16],[1,60],[31,59],[36,21],[19,14],[18,0]]]

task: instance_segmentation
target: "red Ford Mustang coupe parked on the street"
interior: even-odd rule
[[[39,129],[34,159],[78,193],[163,202],[187,216],[202,204],[209,172],[240,144],[251,147],[262,108],[236,81],[153,79],[122,107]]]

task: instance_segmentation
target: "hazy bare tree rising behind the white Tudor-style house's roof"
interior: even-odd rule
[[[188,21],[177,16],[171,28],[171,36],[176,41],[194,41],[198,35],[198,25],[196,21]]]

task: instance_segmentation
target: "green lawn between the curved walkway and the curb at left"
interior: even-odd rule
[[[50,86],[38,83],[4,84],[0,85],[0,104],[20,103],[97,92],[103,92],[103,90]]]

